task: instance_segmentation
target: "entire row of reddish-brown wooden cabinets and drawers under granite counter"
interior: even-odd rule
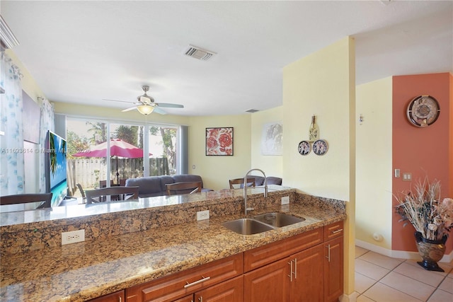
[[[125,291],[127,302],[333,302],[342,294],[343,221]]]

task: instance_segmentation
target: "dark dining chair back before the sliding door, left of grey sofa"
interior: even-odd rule
[[[101,189],[86,190],[86,204],[105,202],[110,196],[110,200],[127,200],[139,198],[139,187],[103,187]]]

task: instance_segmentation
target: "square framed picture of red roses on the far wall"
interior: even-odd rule
[[[233,127],[206,128],[206,155],[233,155]]]

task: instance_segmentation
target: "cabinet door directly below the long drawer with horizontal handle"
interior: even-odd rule
[[[243,302],[243,276],[195,293],[195,302]]]

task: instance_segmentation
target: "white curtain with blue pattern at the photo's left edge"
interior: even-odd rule
[[[0,56],[0,195],[23,194],[22,74],[5,52]]]

